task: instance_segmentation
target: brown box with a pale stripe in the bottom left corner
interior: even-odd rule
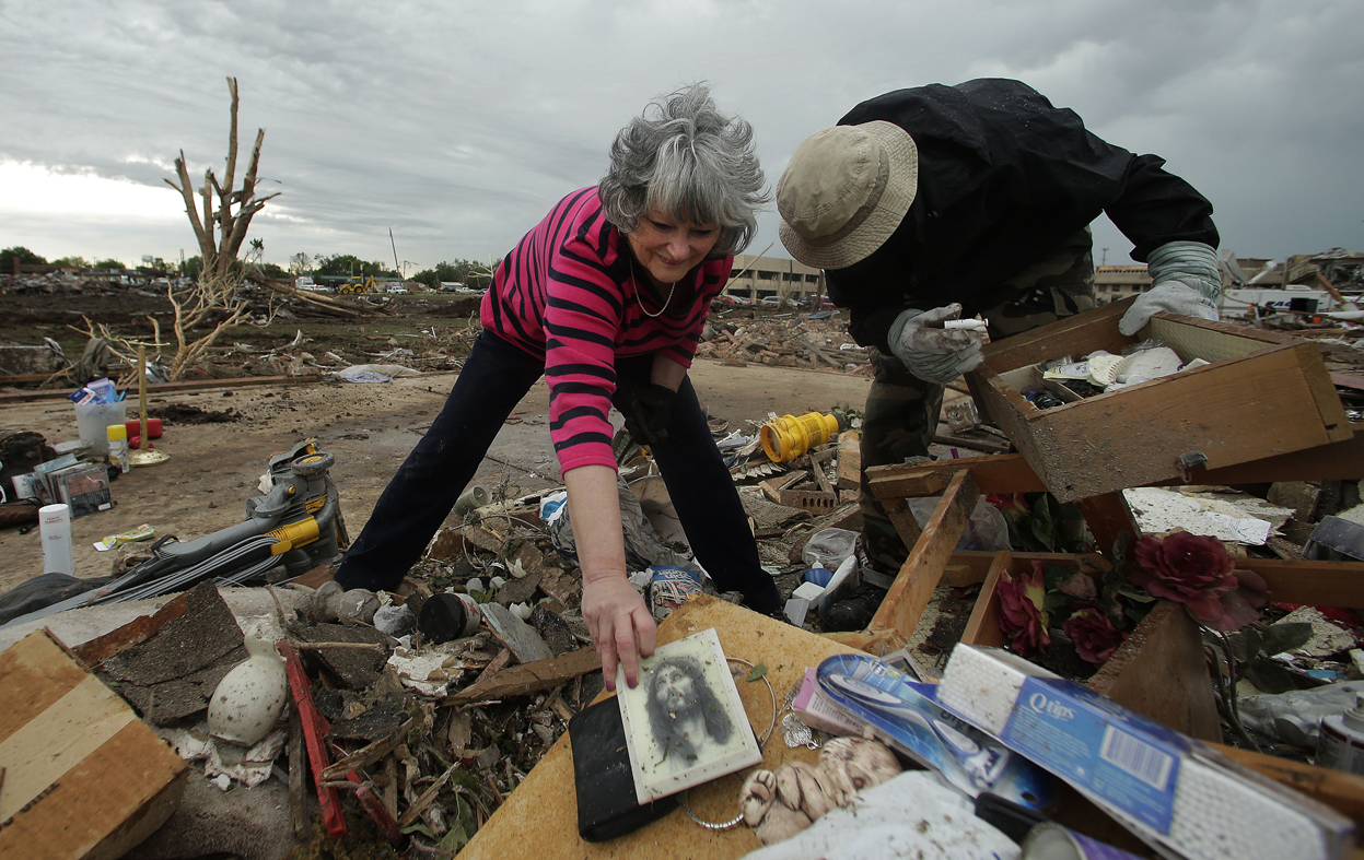
[[[186,763],[45,630],[0,688],[0,857],[117,860],[179,807]]]

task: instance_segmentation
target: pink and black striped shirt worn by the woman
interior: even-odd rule
[[[694,298],[657,318],[659,294],[644,268],[630,268],[625,237],[607,222],[596,188],[563,198],[507,255],[483,296],[488,328],[544,356],[550,437],[563,472],[617,467],[607,418],[615,360],[664,353],[692,367],[711,300],[730,278],[734,258],[704,260],[678,282]],[[641,308],[648,308],[648,313]]]

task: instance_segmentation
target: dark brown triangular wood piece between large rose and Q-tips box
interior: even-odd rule
[[[1191,737],[1222,740],[1203,636],[1178,604],[1155,604],[1087,686]]]

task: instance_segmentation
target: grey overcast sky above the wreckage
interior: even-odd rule
[[[1364,5],[1352,0],[0,0],[0,248],[196,254],[173,176],[239,172],[265,128],[265,259],[353,254],[405,274],[502,256],[602,176],[615,132],[709,80],[772,185],[810,132],[923,83],[1022,79],[1155,153],[1222,248],[1364,251]],[[767,213],[749,248],[788,256]],[[1095,262],[1128,243],[1095,225]],[[1105,251],[1106,248],[1106,251]]]

